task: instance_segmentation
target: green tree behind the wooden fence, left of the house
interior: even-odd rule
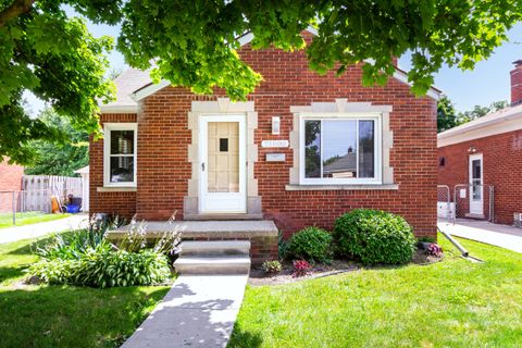
[[[66,135],[67,145],[46,140],[35,140],[30,146],[36,150],[34,163],[25,167],[29,175],[74,176],[74,171],[89,164],[89,135],[77,130],[69,119],[60,116],[52,109],[46,109],[40,120],[48,126],[57,126]]]

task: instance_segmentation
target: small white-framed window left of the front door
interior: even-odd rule
[[[104,186],[136,186],[135,123],[104,125]]]

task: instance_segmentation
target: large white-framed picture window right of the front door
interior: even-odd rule
[[[301,120],[303,184],[380,181],[378,117],[307,116]]]

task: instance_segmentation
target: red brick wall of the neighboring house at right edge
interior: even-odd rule
[[[453,187],[469,182],[471,146],[476,149],[475,153],[483,153],[484,184],[495,189],[495,222],[513,224],[513,213],[522,212],[522,130],[439,148],[438,156],[444,157],[446,163],[438,167],[439,185]]]

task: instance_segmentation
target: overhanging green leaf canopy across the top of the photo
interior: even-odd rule
[[[26,162],[27,140],[59,137],[24,112],[24,90],[74,126],[98,129],[97,100],[113,92],[103,55],[112,42],[92,37],[64,5],[95,23],[120,23],[117,49],[156,80],[198,94],[222,87],[234,100],[262,80],[237,54],[245,34],[254,49],[306,49],[318,73],[340,75],[366,61],[364,85],[385,84],[393,57],[411,51],[408,77],[422,95],[443,64],[472,69],[489,57],[522,15],[522,0],[0,0],[0,156]],[[306,47],[300,33],[310,25],[318,35]]]

